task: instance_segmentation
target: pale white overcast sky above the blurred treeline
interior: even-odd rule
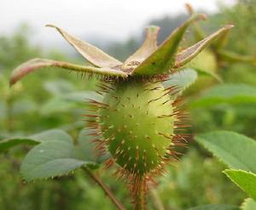
[[[0,34],[27,23],[38,42],[54,43],[58,35],[44,27],[54,24],[77,37],[124,40],[143,30],[149,19],[186,13],[184,3],[216,12],[218,2],[230,6],[236,0],[1,0]]]

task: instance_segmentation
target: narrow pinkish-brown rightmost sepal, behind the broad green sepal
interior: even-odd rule
[[[218,31],[212,33],[208,37],[201,40],[199,43],[195,43],[193,46],[184,49],[182,52],[178,53],[176,56],[175,67],[183,66],[193,60],[197,54],[200,54],[204,48],[207,48],[216,38],[220,35],[229,31],[233,26],[224,26]]]

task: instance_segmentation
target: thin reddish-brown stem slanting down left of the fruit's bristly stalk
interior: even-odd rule
[[[125,210],[125,207],[118,201],[118,199],[113,195],[113,192],[108,188],[108,186],[98,177],[96,174],[91,173],[88,167],[84,167],[84,172],[90,177],[90,179],[94,180],[99,187],[105,192],[106,196],[113,202],[113,204],[118,207],[119,210]]]

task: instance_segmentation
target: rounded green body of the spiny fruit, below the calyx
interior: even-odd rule
[[[160,82],[116,82],[106,94],[99,124],[108,150],[129,173],[162,167],[172,145],[173,100]]]

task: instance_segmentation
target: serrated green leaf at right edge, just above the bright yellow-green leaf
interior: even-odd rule
[[[256,142],[230,131],[215,131],[195,139],[229,167],[256,172]]]

